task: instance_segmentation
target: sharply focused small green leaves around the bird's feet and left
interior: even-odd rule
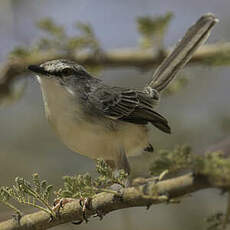
[[[97,160],[96,171],[98,176],[95,178],[88,173],[63,177],[64,185],[55,192],[56,198],[88,198],[99,192],[117,194],[116,191],[111,190],[109,187],[113,184],[119,184],[124,187],[128,176],[124,170],[114,173],[105,161],[101,159]],[[32,175],[32,182],[22,177],[16,177],[15,185],[12,187],[0,187],[0,203],[13,209],[19,216],[22,216],[22,212],[12,201],[38,208],[55,217],[56,213],[50,204],[52,194],[53,186],[49,185],[46,180],[41,180],[39,175],[35,173]]]

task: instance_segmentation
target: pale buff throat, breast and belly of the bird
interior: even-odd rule
[[[148,131],[145,126],[109,119],[89,122],[84,119],[76,95],[54,81],[40,80],[46,115],[71,150],[93,159],[115,160],[121,147],[129,156],[141,153],[147,146]],[[115,122],[115,128],[110,129],[107,122]]]

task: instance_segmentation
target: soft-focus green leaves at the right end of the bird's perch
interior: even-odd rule
[[[159,150],[150,166],[152,175],[159,175],[165,170],[178,173],[190,170],[207,178],[212,186],[230,186],[230,158],[222,152],[194,154],[189,146],[176,146],[173,150]]]

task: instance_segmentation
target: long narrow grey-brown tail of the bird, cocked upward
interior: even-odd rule
[[[145,90],[149,87],[156,89],[158,92],[165,89],[191,59],[193,53],[208,39],[211,29],[218,21],[215,15],[211,13],[201,16],[156,69],[152,80],[145,86]]]

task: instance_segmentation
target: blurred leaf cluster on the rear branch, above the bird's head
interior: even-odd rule
[[[52,51],[60,55],[72,56],[76,52],[89,51],[98,53],[101,50],[99,41],[89,23],[77,22],[74,28],[77,34],[69,36],[64,26],[58,25],[51,18],[44,18],[37,27],[45,34],[33,46],[26,48],[18,46],[10,53],[10,57],[23,58],[36,53],[38,50]]]

